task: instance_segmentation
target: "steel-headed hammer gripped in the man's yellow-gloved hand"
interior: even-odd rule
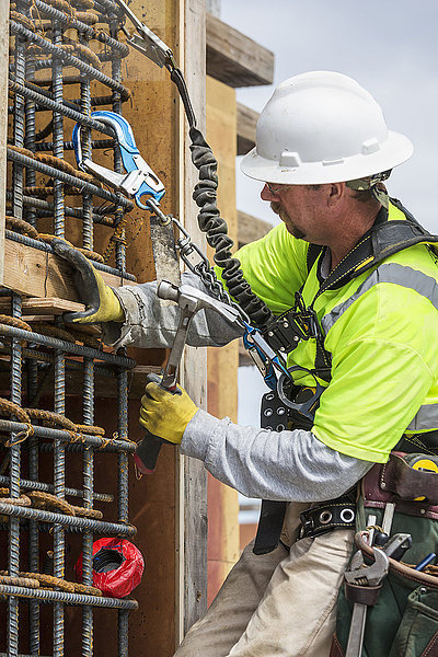
[[[175,301],[181,308],[181,316],[163,377],[159,379],[157,374],[149,374],[148,380],[159,383],[161,388],[173,394],[181,394],[176,387],[177,371],[187,339],[188,328],[195,314],[200,310],[212,310],[229,323],[239,323],[241,326],[243,324],[239,310],[212,299],[191,285],[177,287],[168,280],[163,280],[160,283],[157,293],[160,299]],[[134,454],[135,463],[142,474],[152,474],[154,472],[157,459],[163,442],[165,440],[162,438],[154,436],[150,431],[146,431],[145,438],[138,443]]]

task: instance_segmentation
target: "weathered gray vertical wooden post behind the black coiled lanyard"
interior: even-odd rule
[[[180,53],[198,127],[205,130],[205,1],[181,0]],[[180,123],[182,175],[180,176],[180,209],[192,239],[205,247],[197,226],[197,208],[192,199],[198,180],[188,150],[187,122]],[[192,399],[206,407],[206,349],[188,347],[184,358],[183,384]],[[180,523],[177,542],[180,610],[177,611],[176,643],[207,609],[207,475],[204,464],[195,459],[181,458],[177,464],[177,508]]]

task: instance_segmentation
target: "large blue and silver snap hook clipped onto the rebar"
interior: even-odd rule
[[[83,157],[81,143],[82,126],[79,123],[76,124],[72,134],[78,166],[82,171],[93,173],[111,187],[124,192],[128,196],[132,196],[137,206],[143,210],[150,209],[148,205],[141,201],[143,196],[152,197],[157,203],[160,203],[165,194],[164,185],[140,155],[132,129],[126,118],[106,110],[92,112],[91,117],[113,128],[126,173],[117,173],[111,169],[106,169],[106,166],[96,164],[91,158]]]

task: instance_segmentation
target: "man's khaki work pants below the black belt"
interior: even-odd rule
[[[284,539],[295,539],[304,508],[289,505]],[[251,542],[174,657],[328,657],[353,539],[335,530],[264,555]]]

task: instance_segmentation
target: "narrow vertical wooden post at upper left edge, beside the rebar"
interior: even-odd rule
[[[0,3],[0,284],[3,283],[4,214],[7,203],[9,2]]]

